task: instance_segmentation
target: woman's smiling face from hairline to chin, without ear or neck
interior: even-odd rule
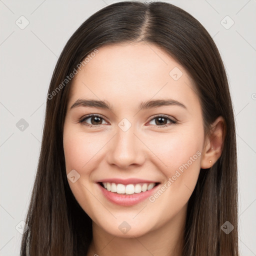
[[[204,147],[184,68],[153,44],[105,45],[72,82],[63,146],[83,210],[102,231],[126,237],[184,219]]]

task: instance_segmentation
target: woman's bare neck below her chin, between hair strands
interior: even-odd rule
[[[167,223],[139,237],[125,238],[109,234],[92,221],[92,242],[87,256],[181,256],[186,206]]]

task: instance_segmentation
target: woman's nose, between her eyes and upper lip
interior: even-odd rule
[[[107,151],[107,161],[120,169],[127,169],[130,165],[141,165],[145,160],[146,146],[134,133],[133,126],[123,131],[117,128],[116,134],[111,139]]]

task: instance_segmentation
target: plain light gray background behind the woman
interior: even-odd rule
[[[19,255],[21,234],[16,226],[25,217],[31,195],[47,90],[57,58],[82,22],[113,2],[117,1],[0,0],[1,256]],[[241,255],[256,255],[256,0],[168,2],[202,23],[224,62],[237,129],[239,246]],[[29,21],[24,29],[15,23],[25,24],[21,15]],[[226,15],[234,21],[228,29],[224,26],[232,21]],[[16,126],[21,118],[28,123],[23,131]]]

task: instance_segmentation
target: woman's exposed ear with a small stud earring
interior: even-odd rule
[[[218,116],[211,124],[210,135],[204,139],[201,157],[202,169],[210,168],[220,157],[224,146],[225,126],[225,120],[222,116]]]

